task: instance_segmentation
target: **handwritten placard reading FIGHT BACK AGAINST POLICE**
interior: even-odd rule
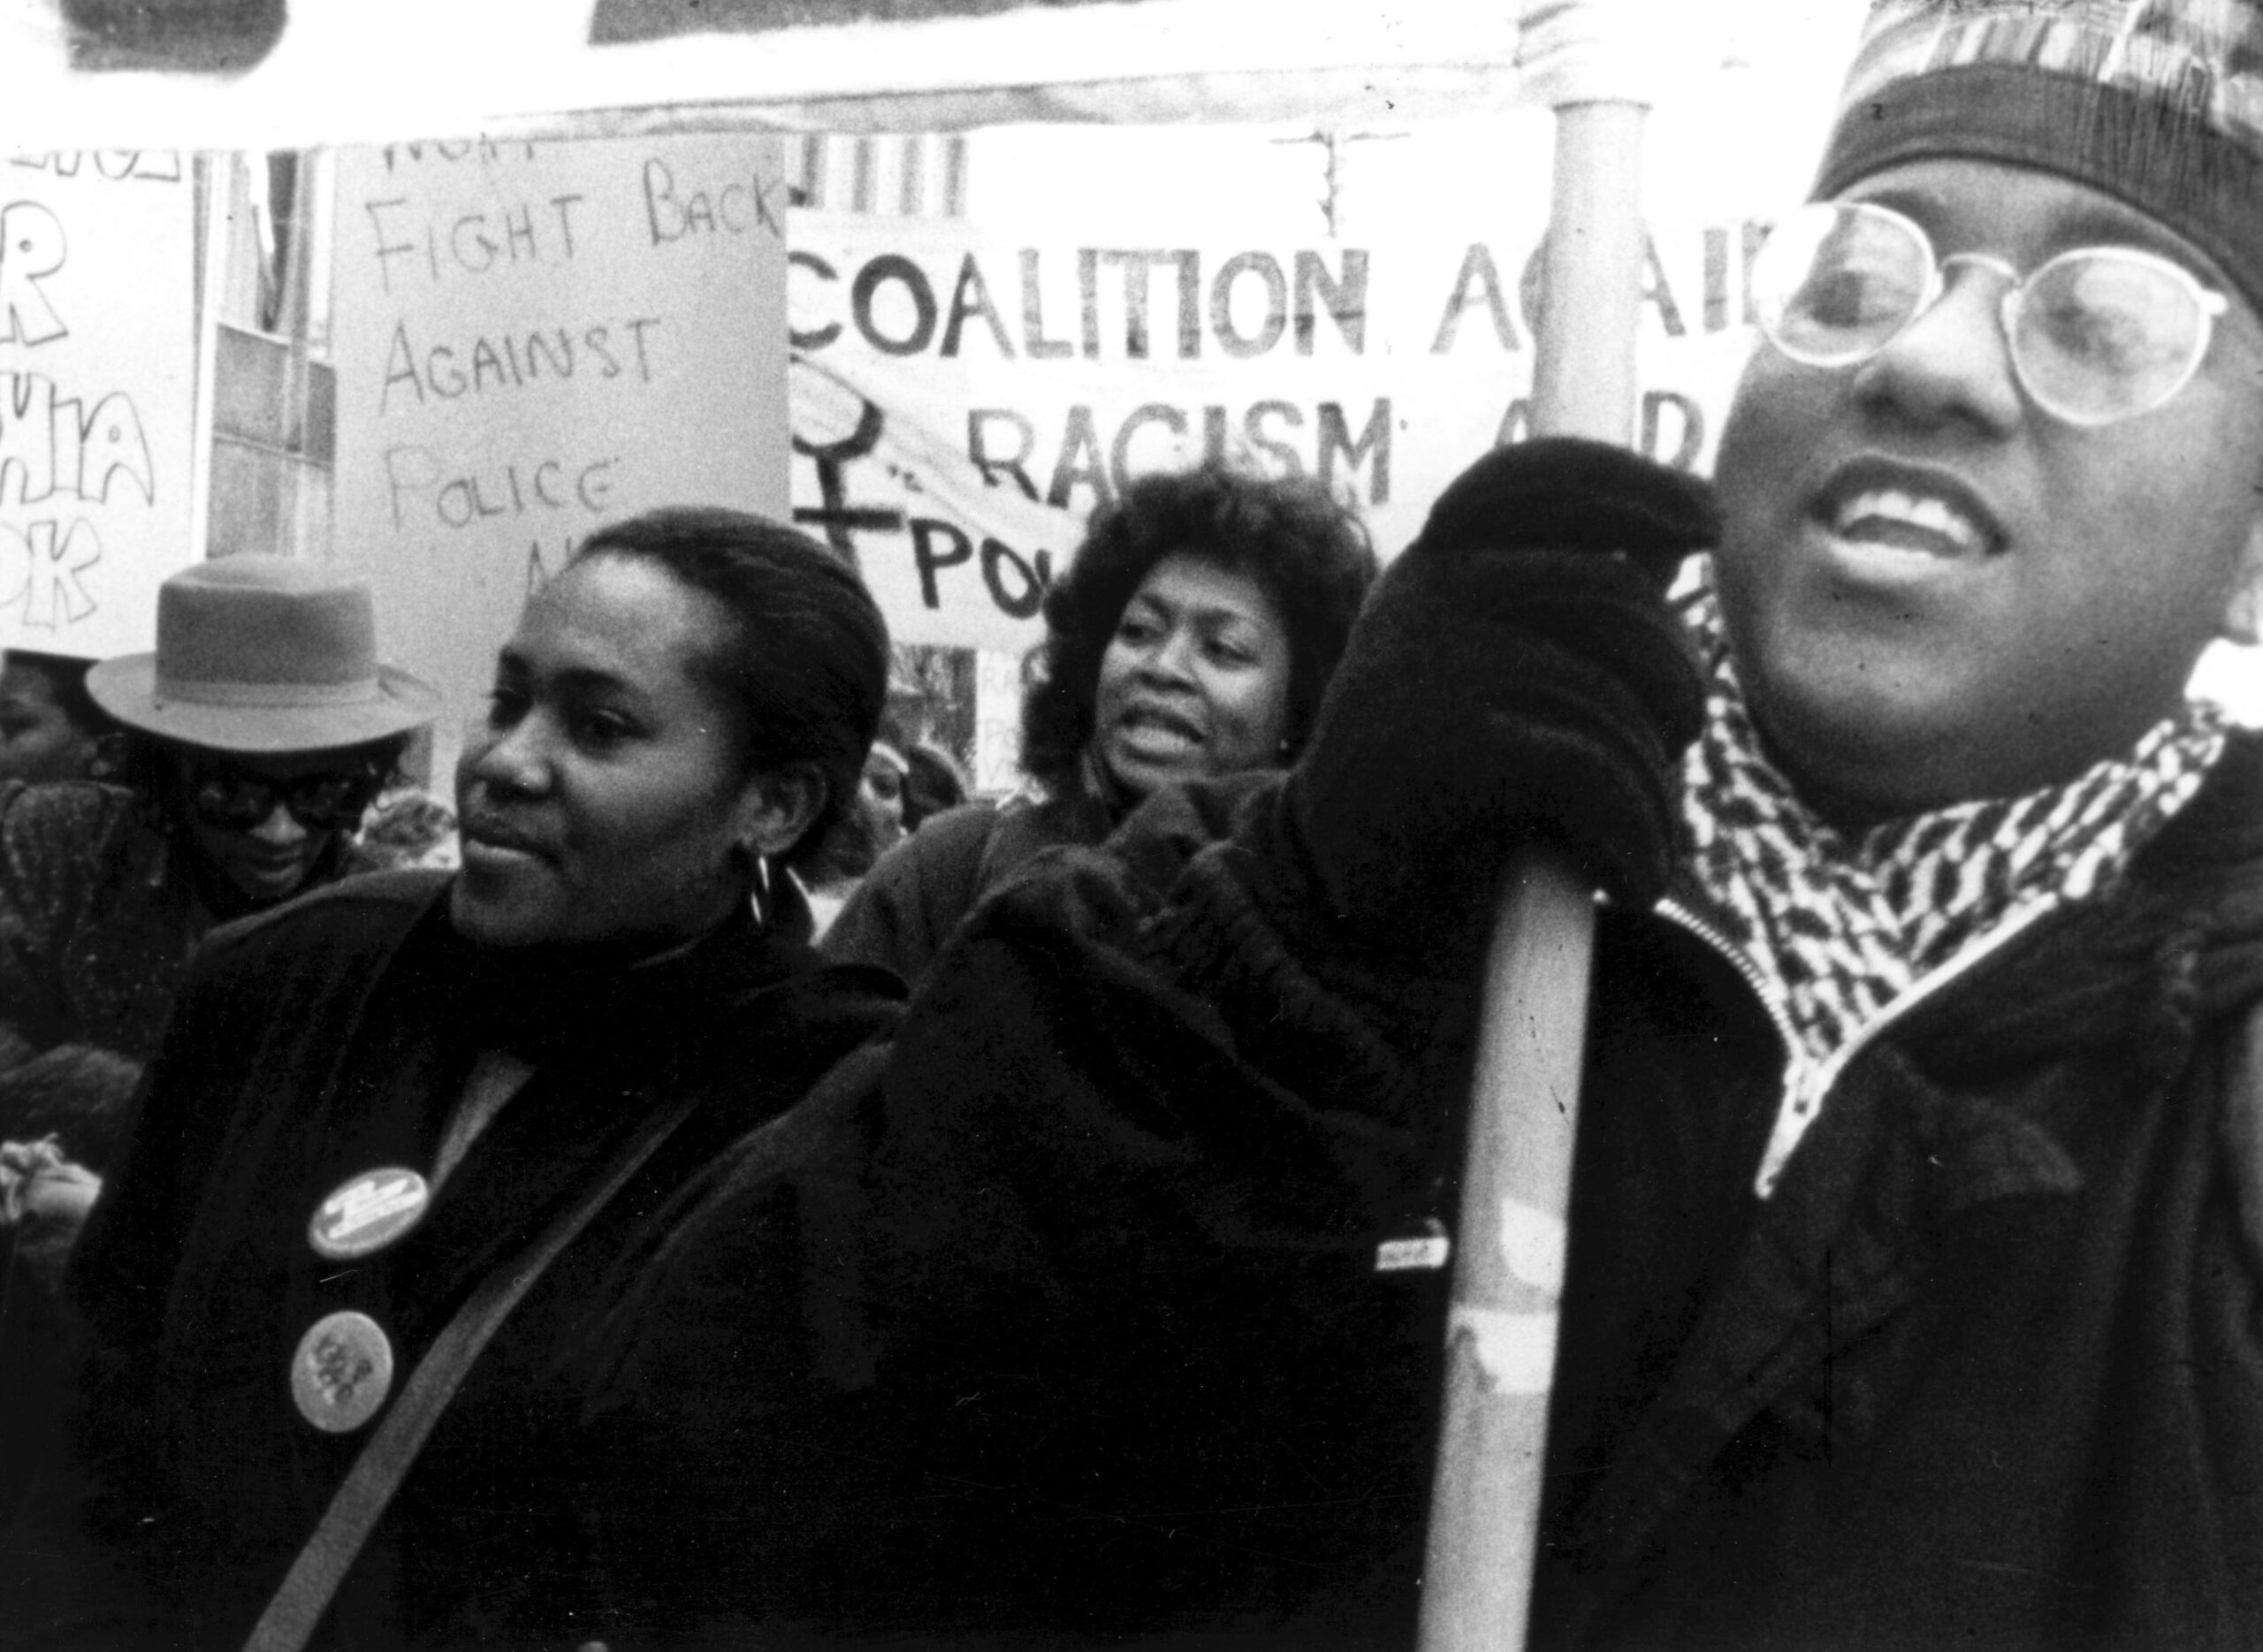
[[[337,226],[335,541],[459,717],[597,523],[785,514],[774,138],[349,149]]]

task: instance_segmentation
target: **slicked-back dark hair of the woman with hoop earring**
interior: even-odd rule
[[[733,647],[690,672],[735,711],[747,774],[810,763],[826,801],[781,855],[799,864],[855,801],[887,704],[887,620],[855,568],[808,534],[751,511],[672,507],[600,527],[575,552],[659,563],[722,604]]]

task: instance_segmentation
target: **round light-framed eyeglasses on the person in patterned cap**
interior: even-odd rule
[[[1933,251],[1926,231],[1869,201],[1815,201],[1776,226],[1752,265],[1761,333],[1806,367],[1853,367],[1892,344],[1948,290],[1951,265],[2010,290],[1998,308],[2012,371],[2048,414],[2111,425],[2193,382],[2229,303],[2168,258],[2075,247],[2021,276],[1985,253]]]

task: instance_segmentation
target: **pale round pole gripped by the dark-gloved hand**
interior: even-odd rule
[[[1638,102],[1557,109],[1537,434],[1632,439],[1643,115]],[[1559,858],[1512,867],[1471,1095],[1421,1652],[1525,1645],[1593,930],[1593,896]]]

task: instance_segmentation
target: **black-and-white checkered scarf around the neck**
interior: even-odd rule
[[[1711,586],[1690,597],[1688,618],[1711,688],[1681,769],[1686,864],[1795,1041],[1761,1161],[1765,1197],[1815,1120],[1838,1052],[2005,923],[2111,887],[2200,790],[2227,720],[2191,702],[2129,756],[2064,785],[1842,833],[1761,751]]]

